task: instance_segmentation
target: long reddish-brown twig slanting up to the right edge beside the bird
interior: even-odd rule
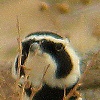
[[[100,50],[93,55],[91,61],[89,62],[89,64],[87,64],[86,70],[84,71],[82,77],[79,79],[78,83],[74,86],[74,88],[67,95],[67,100],[69,100],[69,98],[74,95],[77,88],[81,85],[83,79],[86,77],[86,74],[88,73],[88,70],[95,64],[95,61],[99,53],[100,53]]]

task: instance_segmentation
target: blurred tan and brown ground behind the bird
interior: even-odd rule
[[[11,67],[18,52],[18,28],[23,39],[36,31],[68,37],[82,66],[100,50],[100,0],[0,0],[0,100],[18,100]],[[85,100],[100,100],[100,53],[81,92]]]

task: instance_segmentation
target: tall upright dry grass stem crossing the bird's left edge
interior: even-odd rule
[[[23,100],[23,97],[24,97],[24,89],[25,89],[25,86],[28,82],[28,76],[29,76],[29,73],[27,73],[26,70],[31,70],[29,68],[26,68],[25,66],[21,65],[21,58],[22,58],[22,44],[21,44],[21,36],[20,36],[20,27],[19,27],[19,19],[18,19],[18,16],[17,16],[17,29],[18,29],[18,38],[17,38],[17,41],[18,41],[18,78],[16,80],[16,87],[18,87],[18,83],[19,83],[19,80],[20,80],[20,69],[21,67],[23,67],[23,69],[25,70],[25,76],[24,76],[24,84],[22,84],[21,86],[21,95],[20,95],[20,100]]]

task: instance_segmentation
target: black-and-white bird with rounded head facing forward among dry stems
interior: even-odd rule
[[[32,100],[62,100],[64,87],[67,87],[67,95],[81,76],[80,57],[69,39],[49,31],[33,32],[22,40],[21,65],[31,69],[28,77],[31,86],[25,89],[27,98],[32,94],[31,87],[41,84],[44,70],[48,67],[42,88]],[[12,75],[15,79],[18,77],[18,55],[15,57]],[[23,68],[20,69],[21,76],[25,76]],[[75,99],[76,97],[70,98]]]

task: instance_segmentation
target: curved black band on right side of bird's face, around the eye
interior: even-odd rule
[[[65,51],[65,47],[61,43],[43,40],[41,43],[43,52],[48,53],[57,65],[56,78],[66,77],[72,70],[72,62],[69,54]]]

